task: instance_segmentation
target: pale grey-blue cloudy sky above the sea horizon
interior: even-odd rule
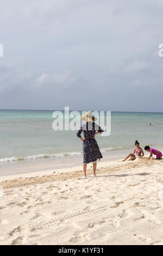
[[[162,0],[0,6],[0,109],[163,112]]]

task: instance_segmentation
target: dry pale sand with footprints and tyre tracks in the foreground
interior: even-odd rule
[[[163,245],[161,161],[0,183],[0,245]],[[28,176],[30,176],[28,174]]]

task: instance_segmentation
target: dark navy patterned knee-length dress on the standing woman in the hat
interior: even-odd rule
[[[95,122],[87,122],[77,132],[77,137],[81,137],[81,133],[84,132],[85,141],[83,142],[83,163],[96,162],[98,159],[103,158],[96,139],[93,139],[96,132],[102,133],[104,130],[101,129]]]

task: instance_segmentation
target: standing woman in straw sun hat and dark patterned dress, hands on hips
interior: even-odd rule
[[[93,163],[93,176],[96,177],[97,160],[103,158],[95,136],[103,132],[103,129],[99,127],[95,121],[97,118],[92,116],[91,111],[87,111],[85,115],[82,115],[82,119],[86,121],[85,124],[80,127],[77,132],[77,137],[83,141],[83,178],[86,178],[86,167],[87,163]],[[84,132],[84,138],[82,138],[81,133]]]

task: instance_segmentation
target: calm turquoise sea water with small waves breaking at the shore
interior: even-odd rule
[[[0,163],[82,154],[76,131],[54,131],[53,111],[0,110]],[[152,126],[149,126],[152,123]],[[96,137],[104,151],[163,147],[163,113],[111,113],[111,135]]]

